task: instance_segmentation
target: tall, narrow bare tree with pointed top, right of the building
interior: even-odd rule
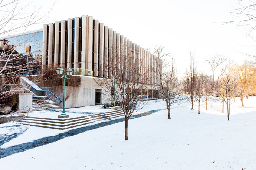
[[[184,81],[184,89],[189,95],[191,110],[194,109],[196,79],[197,79],[197,72],[196,72],[195,58],[194,58],[194,54],[190,52],[190,71],[186,71],[186,75],[183,81]]]

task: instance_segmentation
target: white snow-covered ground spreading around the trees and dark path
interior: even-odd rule
[[[243,108],[237,98],[231,105],[230,121],[226,107],[221,113],[221,104],[213,102],[211,107],[209,102],[206,110],[203,103],[198,115],[198,105],[190,110],[187,102],[171,108],[170,120],[167,110],[131,119],[127,141],[124,141],[124,122],[93,129],[2,158],[0,169],[255,170],[256,97],[245,99]],[[96,110],[95,107],[88,110]],[[164,101],[150,101],[139,112],[165,107]],[[1,127],[10,125],[5,123]],[[40,137],[38,133],[44,136],[59,133],[27,127],[26,132],[13,140],[22,143],[35,139],[33,135]],[[5,147],[11,142],[4,144]]]

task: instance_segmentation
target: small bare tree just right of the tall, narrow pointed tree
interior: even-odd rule
[[[205,101],[205,86],[206,80],[204,73],[198,74],[196,76],[196,86],[195,86],[195,100],[198,102],[198,114],[200,114],[200,103]]]

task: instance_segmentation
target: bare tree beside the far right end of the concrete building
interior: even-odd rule
[[[156,85],[160,87],[159,94],[166,102],[168,119],[171,119],[170,107],[184,102],[183,95],[180,93],[181,83],[177,78],[175,58],[173,55],[164,52],[164,47],[154,47],[156,63]]]

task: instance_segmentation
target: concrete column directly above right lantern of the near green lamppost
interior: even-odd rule
[[[72,20],[68,18],[68,49],[67,49],[67,68],[71,68],[71,55],[72,55]]]

